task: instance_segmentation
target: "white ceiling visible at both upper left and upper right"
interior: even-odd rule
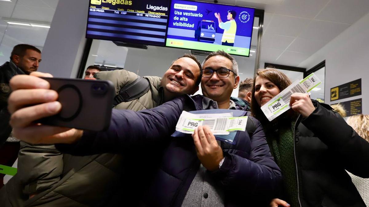
[[[299,66],[369,12],[369,0],[218,0],[218,3],[265,10],[260,62],[288,66]],[[57,4],[58,0],[0,1],[0,17],[51,22]],[[10,47],[24,42],[42,48],[48,29],[27,28],[27,35],[21,35],[22,29],[24,26],[0,21],[1,45]],[[256,31],[252,45],[256,45]]]

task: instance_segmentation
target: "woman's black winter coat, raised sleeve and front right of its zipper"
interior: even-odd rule
[[[345,169],[369,177],[369,143],[329,105],[313,104],[314,112],[300,115],[294,129],[301,207],[365,207]]]

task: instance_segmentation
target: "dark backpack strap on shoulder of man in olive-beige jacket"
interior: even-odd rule
[[[114,97],[113,107],[121,102],[128,102],[146,94],[150,90],[149,80],[138,76],[132,83],[125,85]]]

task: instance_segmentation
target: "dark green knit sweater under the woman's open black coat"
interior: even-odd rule
[[[274,137],[269,144],[273,157],[283,174],[283,185],[289,200],[286,200],[292,207],[299,206],[297,196],[297,175],[296,164],[293,150],[294,142],[294,125],[292,122],[290,127],[279,129],[278,136]]]

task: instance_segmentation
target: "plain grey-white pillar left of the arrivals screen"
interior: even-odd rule
[[[62,0],[56,7],[42,50],[39,70],[75,78],[86,38],[88,0]]]

